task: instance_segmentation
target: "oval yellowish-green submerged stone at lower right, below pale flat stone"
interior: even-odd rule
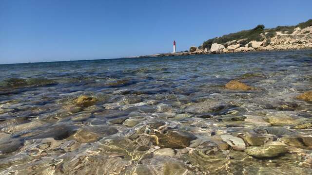
[[[288,153],[288,150],[284,145],[266,145],[249,148],[246,152],[247,155],[256,158],[272,158],[282,156]]]

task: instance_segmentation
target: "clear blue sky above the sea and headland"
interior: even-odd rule
[[[310,18],[312,0],[0,0],[0,64],[185,51]]]

